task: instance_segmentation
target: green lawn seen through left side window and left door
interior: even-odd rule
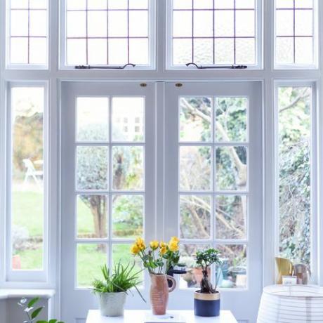
[[[13,223],[26,228],[29,237],[41,237],[43,232],[43,206],[41,192],[17,191],[13,192]],[[93,234],[93,216],[84,202],[78,201],[77,228],[82,235]],[[116,223],[114,228],[129,230],[128,225]],[[127,236],[133,237],[133,236]],[[17,250],[15,254],[20,256],[21,269],[34,270],[42,268],[41,243],[33,246],[33,249]],[[129,244],[114,244],[112,248],[113,261],[122,263],[133,261]],[[100,267],[107,263],[107,251],[98,248],[98,244],[79,244],[77,249],[77,281],[79,286],[90,286],[94,277],[100,277]],[[140,270],[140,265],[136,266]]]

